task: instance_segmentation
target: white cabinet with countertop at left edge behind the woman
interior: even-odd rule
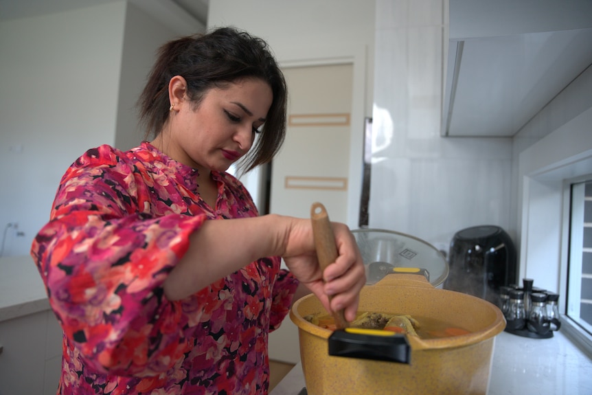
[[[0,395],[54,395],[62,330],[28,256],[0,259]]]

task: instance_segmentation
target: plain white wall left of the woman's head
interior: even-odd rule
[[[6,224],[19,224],[6,229],[4,256],[29,253],[62,174],[84,151],[139,143],[133,106],[157,47],[203,30],[177,9],[160,23],[135,3],[0,23],[0,245]]]

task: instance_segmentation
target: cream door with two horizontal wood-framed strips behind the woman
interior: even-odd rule
[[[273,160],[270,212],[310,218],[310,206],[325,205],[331,221],[347,222],[352,65],[284,69],[288,85],[288,130]],[[363,133],[362,125],[360,133]],[[360,157],[360,166],[362,158]],[[300,361],[298,328],[289,317],[269,335],[269,357]]]

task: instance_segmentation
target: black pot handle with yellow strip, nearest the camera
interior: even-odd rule
[[[334,330],[328,339],[329,355],[411,363],[407,336],[388,330],[345,328]]]

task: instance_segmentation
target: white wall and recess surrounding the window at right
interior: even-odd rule
[[[569,215],[564,180],[592,175],[591,125],[592,67],[588,67],[514,137],[519,275],[561,295],[567,290],[564,221]]]

